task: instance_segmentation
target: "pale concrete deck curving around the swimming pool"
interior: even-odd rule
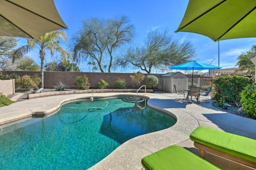
[[[32,115],[52,113],[63,102],[81,98],[136,95],[136,93],[86,93],[56,95],[14,103],[0,108],[0,125]],[[177,123],[165,130],[141,135],[126,141],[90,169],[143,169],[141,159],[172,144],[199,154],[189,139],[189,134],[198,126],[207,126],[226,132],[256,139],[256,120],[226,113],[216,109],[212,103],[187,103],[172,93],[147,93],[148,105],[177,118]],[[1,130],[1,127],[0,127]],[[206,154],[205,159],[222,169],[252,169],[229,160]],[[184,162],[185,163],[185,162]]]

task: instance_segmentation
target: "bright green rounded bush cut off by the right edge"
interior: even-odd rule
[[[243,111],[252,118],[256,118],[256,83],[248,85],[241,92]]]

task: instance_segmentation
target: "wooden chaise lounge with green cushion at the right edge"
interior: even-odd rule
[[[190,134],[200,156],[208,152],[256,168],[256,140],[200,126]]]

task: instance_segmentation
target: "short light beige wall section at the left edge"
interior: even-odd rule
[[[0,80],[0,93],[5,94],[6,96],[14,94],[15,93],[14,79]]]

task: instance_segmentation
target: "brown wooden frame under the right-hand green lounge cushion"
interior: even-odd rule
[[[246,165],[246,166],[249,166],[249,167],[252,167],[252,168],[256,168],[256,163],[245,160],[243,158],[239,158],[239,157],[227,154],[225,152],[218,151],[216,149],[207,147],[206,145],[203,145],[203,144],[200,144],[200,143],[197,143],[197,142],[194,142],[194,146],[196,148],[200,149],[200,157],[203,158],[203,159],[204,159],[204,153],[208,152],[208,153],[220,156],[222,158],[229,159],[231,161],[238,162],[240,164],[243,164],[243,165]]]

